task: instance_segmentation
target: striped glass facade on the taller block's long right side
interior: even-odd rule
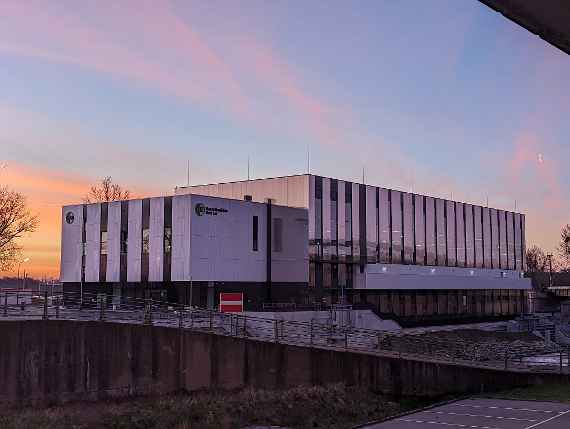
[[[318,177],[314,195],[317,286],[348,285],[356,269],[351,264],[509,270],[524,264],[520,214]],[[280,228],[274,227],[279,251]]]

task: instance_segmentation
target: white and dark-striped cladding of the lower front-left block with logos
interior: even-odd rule
[[[66,206],[61,280],[307,284],[307,237],[308,211],[275,204],[178,195]]]

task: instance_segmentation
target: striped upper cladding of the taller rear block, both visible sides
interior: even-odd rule
[[[374,264],[512,271],[513,282],[528,286],[518,275],[525,263],[519,213],[309,174],[176,189],[188,192],[303,204],[312,286],[368,288]],[[479,286],[510,288],[506,281]]]

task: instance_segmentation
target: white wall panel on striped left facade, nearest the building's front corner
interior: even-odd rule
[[[172,198],[172,281],[190,280],[190,215],[192,197],[177,195]],[[201,252],[208,248],[194,251]]]

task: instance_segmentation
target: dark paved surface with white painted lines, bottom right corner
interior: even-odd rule
[[[570,405],[467,399],[367,426],[366,429],[570,429]]]

